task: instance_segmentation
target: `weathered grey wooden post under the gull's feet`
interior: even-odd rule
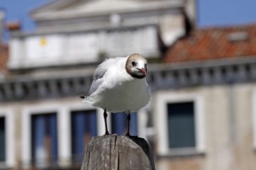
[[[87,144],[81,170],[91,169],[154,170],[155,166],[145,139],[110,134],[96,136]]]

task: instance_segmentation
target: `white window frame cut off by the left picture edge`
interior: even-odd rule
[[[10,109],[0,109],[0,117],[5,118],[5,161],[0,162],[0,169],[14,167],[15,140],[14,140],[14,116]]]

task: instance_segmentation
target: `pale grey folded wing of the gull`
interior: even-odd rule
[[[108,71],[107,60],[98,65],[96,71],[94,72],[94,76],[92,77],[92,85],[89,90],[89,95],[94,93],[98,89],[98,87],[103,83],[102,77],[105,75],[106,71]]]

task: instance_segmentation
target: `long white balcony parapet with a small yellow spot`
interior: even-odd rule
[[[98,62],[133,53],[158,56],[156,26],[17,36],[10,40],[9,69]]]

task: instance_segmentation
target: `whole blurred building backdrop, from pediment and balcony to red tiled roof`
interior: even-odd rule
[[[32,11],[34,32],[11,32],[9,54],[0,49],[0,169],[79,169],[86,142],[104,134],[103,111],[79,95],[103,57],[134,52],[150,62],[152,99],[131,134],[150,142],[156,169],[255,169],[255,24],[187,32],[191,1],[160,2],[54,1]],[[124,114],[108,124],[125,133]]]

